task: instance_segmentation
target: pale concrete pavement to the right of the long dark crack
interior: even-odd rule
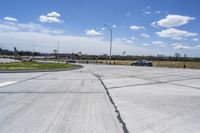
[[[200,70],[85,67],[100,76],[130,133],[200,132]]]

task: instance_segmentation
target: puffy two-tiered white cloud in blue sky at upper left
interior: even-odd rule
[[[59,13],[51,12],[51,13],[48,13],[46,16],[41,15],[39,17],[39,21],[42,23],[61,23],[61,22],[63,22],[63,20],[60,20],[59,17],[61,17],[61,15]]]

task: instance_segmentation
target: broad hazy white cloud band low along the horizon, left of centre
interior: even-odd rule
[[[12,50],[32,50],[33,42],[37,52],[52,52],[60,42],[60,52],[72,53],[81,51],[83,54],[107,54],[109,53],[109,41],[100,38],[83,36],[50,35],[38,32],[0,32],[1,48]],[[9,45],[8,45],[9,44]],[[127,45],[126,43],[115,43],[113,54],[121,54],[126,51],[128,55],[152,55],[155,52],[150,48]]]

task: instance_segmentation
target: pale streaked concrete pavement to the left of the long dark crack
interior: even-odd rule
[[[100,81],[86,69],[0,74],[0,133],[122,133]]]

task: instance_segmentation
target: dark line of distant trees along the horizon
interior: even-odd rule
[[[104,55],[87,55],[77,53],[41,53],[31,51],[10,51],[0,48],[0,55],[8,56],[43,56],[51,58],[62,58],[62,59],[81,59],[81,60],[109,60],[109,56]],[[200,61],[198,57],[187,57],[187,55],[181,56],[179,53],[175,53],[173,56],[157,55],[157,56],[137,56],[137,55],[112,55],[112,60],[152,60],[152,61]]]

